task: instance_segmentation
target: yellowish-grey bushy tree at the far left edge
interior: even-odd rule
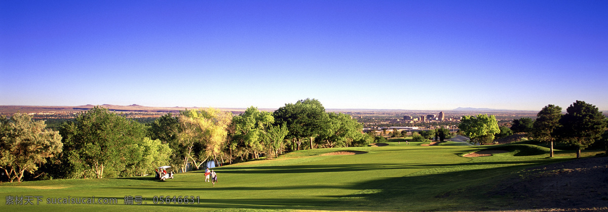
[[[0,116],[0,168],[10,182],[21,182],[26,171],[33,174],[62,151],[59,132],[45,128],[44,121],[32,121],[27,114]]]

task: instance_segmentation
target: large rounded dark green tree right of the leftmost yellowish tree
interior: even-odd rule
[[[135,162],[134,146],[143,142],[145,127],[108,109],[95,106],[61,127],[64,154],[69,170],[66,177],[128,176]]]

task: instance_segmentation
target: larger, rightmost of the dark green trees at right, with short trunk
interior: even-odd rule
[[[576,100],[566,108],[566,114],[559,119],[557,135],[576,146],[576,158],[581,157],[581,149],[587,148],[606,131],[606,117],[593,104]]]

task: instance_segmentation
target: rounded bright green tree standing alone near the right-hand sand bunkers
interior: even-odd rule
[[[473,142],[480,144],[491,143],[494,134],[500,132],[496,117],[486,114],[479,114],[477,117],[465,115],[461,118],[458,128]]]

